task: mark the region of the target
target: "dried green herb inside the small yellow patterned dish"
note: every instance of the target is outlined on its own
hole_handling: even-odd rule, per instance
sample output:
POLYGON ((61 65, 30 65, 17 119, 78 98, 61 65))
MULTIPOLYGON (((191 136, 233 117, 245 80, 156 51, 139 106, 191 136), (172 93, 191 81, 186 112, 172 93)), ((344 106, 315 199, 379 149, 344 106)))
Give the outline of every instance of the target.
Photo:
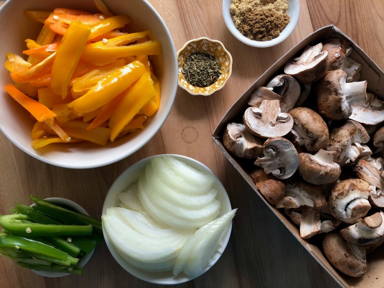
POLYGON ((204 52, 189 55, 184 62, 181 72, 185 80, 197 87, 207 87, 220 77, 220 64, 215 56, 204 52))

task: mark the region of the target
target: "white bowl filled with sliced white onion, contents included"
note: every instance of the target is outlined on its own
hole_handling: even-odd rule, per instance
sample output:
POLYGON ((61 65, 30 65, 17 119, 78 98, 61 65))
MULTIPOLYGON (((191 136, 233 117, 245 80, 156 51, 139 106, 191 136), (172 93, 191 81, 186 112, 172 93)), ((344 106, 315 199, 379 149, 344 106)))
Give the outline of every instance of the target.
POLYGON ((180 155, 143 159, 105 197, 106 245, 127 272, 178 284, 208 271, 224 252, 236 209, 217 176, 180 155))

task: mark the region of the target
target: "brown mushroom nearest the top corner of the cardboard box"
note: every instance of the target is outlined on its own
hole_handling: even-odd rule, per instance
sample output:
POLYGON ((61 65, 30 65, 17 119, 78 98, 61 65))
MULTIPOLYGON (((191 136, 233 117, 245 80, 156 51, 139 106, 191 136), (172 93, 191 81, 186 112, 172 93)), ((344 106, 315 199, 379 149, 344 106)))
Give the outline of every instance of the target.
POLYGON ((329 70, 339 69, 340 64, 349 54, 349 42, 339 38, 329 38, 323 43, 323 51, 328 52, 327 64, 329 70))

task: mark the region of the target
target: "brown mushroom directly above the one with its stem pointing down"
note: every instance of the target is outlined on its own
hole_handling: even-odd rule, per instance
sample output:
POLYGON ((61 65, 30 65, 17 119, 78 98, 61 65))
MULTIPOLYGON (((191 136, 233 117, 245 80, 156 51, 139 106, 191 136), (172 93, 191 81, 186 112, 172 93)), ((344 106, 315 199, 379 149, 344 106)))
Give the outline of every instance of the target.
POLYGON ((285 186, 284 197, 275 205, 279 208, 320 208, 327 203, 326 195, 320 186, 304 181, 289 181, 285 186))

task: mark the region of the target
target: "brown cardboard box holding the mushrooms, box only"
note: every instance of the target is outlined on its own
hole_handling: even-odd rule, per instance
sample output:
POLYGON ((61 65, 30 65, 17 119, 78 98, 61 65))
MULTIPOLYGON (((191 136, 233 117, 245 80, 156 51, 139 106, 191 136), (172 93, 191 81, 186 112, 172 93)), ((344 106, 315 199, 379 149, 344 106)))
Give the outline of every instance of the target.
POLYGON ((280 218, 282 223, 289 229, 289 231, 296 237, 298 241, 305 247, 305 249, 317 260, 319 264, 342 286, 345 287, 384 287, 384 245, 381 245, 374 253, 367 255, 368 260, 368 272, 359 278, 349 277, 336 271, 332 265, 328 262, 321 250, 321 243, 316 243, 314 240, 304 240, 300 237, 300 231, 281 211, 271 206, 265 198, 260 194, 254 185, 253 179, 248 174, 250 170, 249 165, 253 165, 254 161, 243 161, 238 158, 233 158, 232 155, 226 150, 222 142, 222 135, 226 128, 226 125, 230 122, 241 123, 242 116, 245 109, 248 107, 248 99, 250 94, 255 88, 264 86, 274 76, 283 74, 284 65, 295 56, 300 56, 301 52, 307 45, 316 45, 319 42, 326 40, 327 38, 339 37, 344 38, 350 42, 353 52, 350 55, 351 58, 358 61, 363 65, 361 70, 361 79, 368 80, 368 92, 374 93, 381 99, 384 99, 384 72, 377 67, 369 56, 361 50, 356 43, 350 39, 343 32, 338 30, 335 26, 326 26, 313 32, 306 37, 303 41, 298 43, 290 51, 288 51, 283 57, 276 61, 271 68, 269 68, 258 80, 256 80, 251 87, 232 105, 228 112, 221 119, 220 123, 216 127, 212 139, 222 150, 225 157, 229 162, 239 171, 243 178, 253 188, 257 195, 259 195, 264 203, 269 206, 273 213, 280 218))

